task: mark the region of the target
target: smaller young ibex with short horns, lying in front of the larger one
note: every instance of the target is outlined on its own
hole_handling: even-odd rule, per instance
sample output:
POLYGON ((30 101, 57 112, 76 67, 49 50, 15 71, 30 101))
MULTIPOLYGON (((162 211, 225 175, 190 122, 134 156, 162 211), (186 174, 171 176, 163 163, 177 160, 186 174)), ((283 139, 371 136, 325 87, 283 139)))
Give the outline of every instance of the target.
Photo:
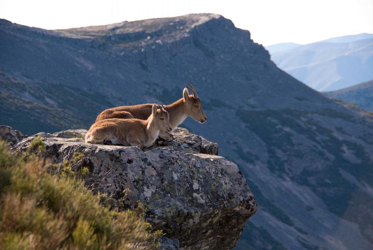
POLYGON ((156 141, 160 131, 171 132, 169 114, 159 105, 151 107, 147 120, 110 118, 94 123, 85 142, 104 144, 110 141, 114 145, 150 147, 156 141))

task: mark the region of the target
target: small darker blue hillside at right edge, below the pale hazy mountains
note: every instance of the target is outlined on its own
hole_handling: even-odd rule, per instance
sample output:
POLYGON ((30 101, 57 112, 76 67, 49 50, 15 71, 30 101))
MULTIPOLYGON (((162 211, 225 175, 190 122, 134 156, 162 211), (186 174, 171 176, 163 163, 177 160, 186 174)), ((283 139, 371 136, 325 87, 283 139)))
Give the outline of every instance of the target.
POLYGON ((373 111, 373 80, 324 94, 373 111))

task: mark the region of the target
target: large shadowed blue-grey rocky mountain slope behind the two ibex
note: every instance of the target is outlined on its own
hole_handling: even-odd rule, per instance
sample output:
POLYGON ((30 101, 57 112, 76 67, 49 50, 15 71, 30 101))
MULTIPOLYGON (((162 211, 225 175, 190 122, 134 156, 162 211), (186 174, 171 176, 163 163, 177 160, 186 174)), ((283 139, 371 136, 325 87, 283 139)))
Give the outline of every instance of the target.
POLYGON ((1 123, 88 128, 104 108, 169 104, 191 82, 206 124, 259 205, 237 249, 372 249, 373 124, 276 67, 219 15, 63 31, 0 24, 1 123), (4 86, 4 87, 3 87, 4 86))

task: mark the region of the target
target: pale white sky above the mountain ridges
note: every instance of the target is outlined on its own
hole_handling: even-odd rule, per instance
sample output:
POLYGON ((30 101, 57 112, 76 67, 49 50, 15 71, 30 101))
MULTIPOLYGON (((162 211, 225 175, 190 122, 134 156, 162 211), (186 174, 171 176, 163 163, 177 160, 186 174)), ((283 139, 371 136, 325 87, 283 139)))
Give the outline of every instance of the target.
POLYGON ((312 43, 373 33, 373 0, 0 0, 0 18, 48 30, 216 13, 256 43, 312 43))

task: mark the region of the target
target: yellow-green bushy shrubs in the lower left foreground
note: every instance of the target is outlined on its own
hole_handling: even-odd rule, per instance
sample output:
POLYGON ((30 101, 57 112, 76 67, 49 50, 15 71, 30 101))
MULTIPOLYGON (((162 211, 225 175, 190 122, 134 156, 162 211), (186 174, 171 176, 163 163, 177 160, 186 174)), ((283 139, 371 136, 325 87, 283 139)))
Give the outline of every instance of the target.
POLYGON ((50 169, 30 153, 17 159, 0 141, 0 249, 157 249, 162 232, 144 221, 141 204, 110 210, 105 195, 50 169))

